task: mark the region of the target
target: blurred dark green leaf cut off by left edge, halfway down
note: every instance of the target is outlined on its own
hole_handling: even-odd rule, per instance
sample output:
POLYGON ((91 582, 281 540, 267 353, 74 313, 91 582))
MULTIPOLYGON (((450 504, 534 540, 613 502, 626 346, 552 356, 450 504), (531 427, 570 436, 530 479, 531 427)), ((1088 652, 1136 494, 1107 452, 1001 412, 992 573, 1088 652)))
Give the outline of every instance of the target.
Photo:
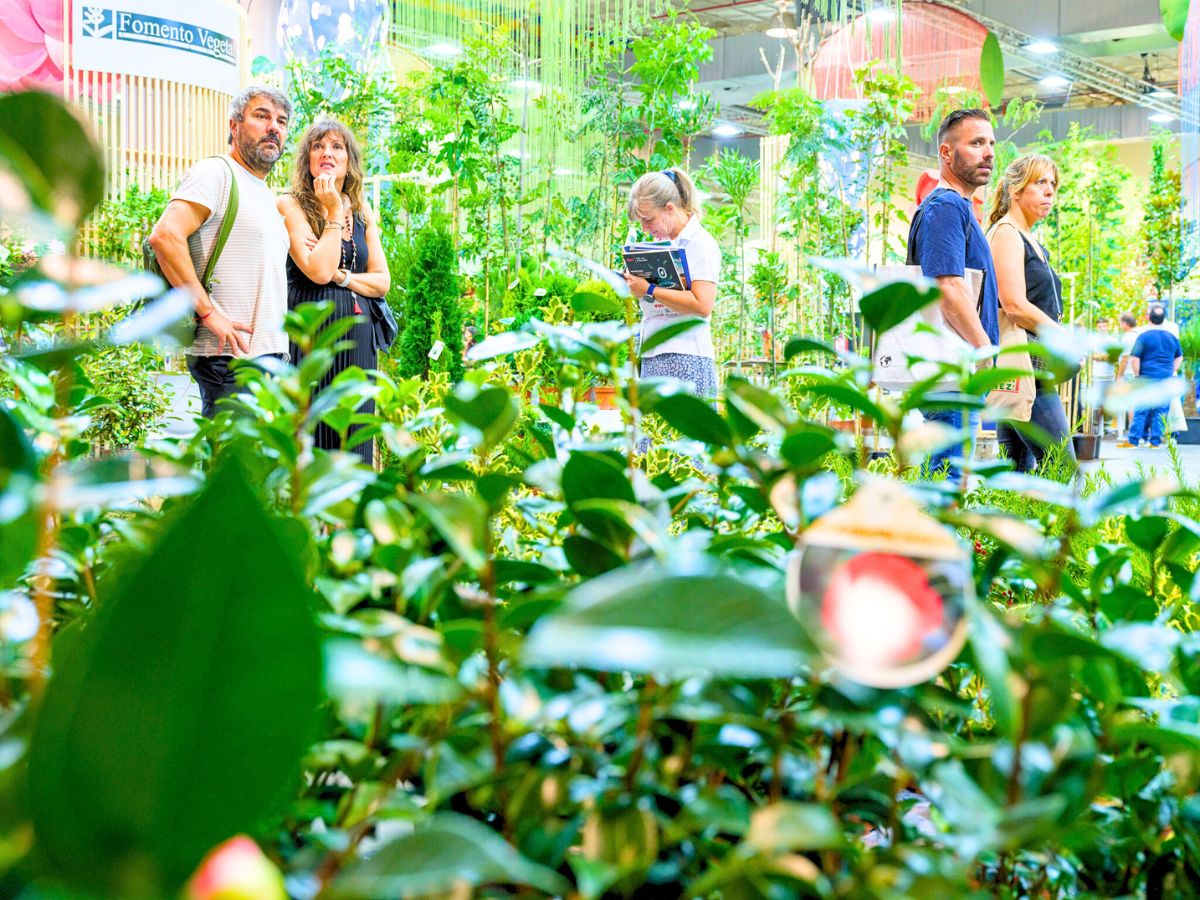
POLYGON ((12 584, 37 551, 37 455, 0 404, 0 586, 12 584))

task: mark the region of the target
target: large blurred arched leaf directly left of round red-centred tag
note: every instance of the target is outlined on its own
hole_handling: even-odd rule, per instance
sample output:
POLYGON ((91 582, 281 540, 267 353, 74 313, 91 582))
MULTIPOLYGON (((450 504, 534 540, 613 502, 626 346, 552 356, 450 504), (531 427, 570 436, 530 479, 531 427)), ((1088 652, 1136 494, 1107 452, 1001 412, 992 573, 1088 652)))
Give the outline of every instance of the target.
POLYGON ((584 582, 534 626, 540 666, 787 678, 809 659, 782 600, 697 557, 642 564, 584 582))

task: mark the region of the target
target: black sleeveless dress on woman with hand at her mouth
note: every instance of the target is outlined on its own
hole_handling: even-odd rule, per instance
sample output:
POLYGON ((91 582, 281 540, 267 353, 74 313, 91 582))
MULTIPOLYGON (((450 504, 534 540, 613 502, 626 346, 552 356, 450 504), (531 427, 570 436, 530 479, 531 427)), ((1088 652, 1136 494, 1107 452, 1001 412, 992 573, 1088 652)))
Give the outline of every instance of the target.
MULTIPOLYGON (((352 272, 359 274, 367 270, 367 229, 366 222, 359 216, 354 217, 354 232, 350 235, 350 240, 342 241, 342 260, 340 268, 348 269, 352 272)), ((288 257, 288 308, 294 310, 300 304, 316 302, 318 300, 329 300, 334 304, 334 314, 329 318, 329 322, 336 322, 337 319, 344 319, 352 316, 359 316, 360 322, 354 324, 343 341, 353 341, 354 347, 348 350, 342 350, 337 354, 334 360, 334 367, 329 370, 325 377, 317 385, 317 390, 323 390, 328 388, 329 384, 341 373, 344 372, 350 366, 359 366, 360 368, 372 370, 376 368, 378 360, 376 358, 373 331, 371 328, 371 313, 366 307, 366 300, 358 294, 355 294, 349 288, 340 288, 336 284, 317 284, 308 281, 308 277, 300 271, 300 268, 292 262, 292 257, 288 257)), ((292 352, 292 360, 294 364, 300 361, 300 348, 292 344, 289 348, 292 352)), ((359 407, 360 413, 373 413, 374 401, 370 400, 359 407)), ((349 434, 353 434, 361 426, 352 425, 349 428, 349 434)), ((317 424, 317 431, 313 434, 313 440, 317 448, 322 450, 338 450, 341 449, 341 439, 337 432, 331 427, 325 425, 325 422, 317 424)), ((374 464, 374 440, 366 440, 358 446, 352 448, 352 452, 358 454, 362 457, 362 462, 367 466, 374 464)))

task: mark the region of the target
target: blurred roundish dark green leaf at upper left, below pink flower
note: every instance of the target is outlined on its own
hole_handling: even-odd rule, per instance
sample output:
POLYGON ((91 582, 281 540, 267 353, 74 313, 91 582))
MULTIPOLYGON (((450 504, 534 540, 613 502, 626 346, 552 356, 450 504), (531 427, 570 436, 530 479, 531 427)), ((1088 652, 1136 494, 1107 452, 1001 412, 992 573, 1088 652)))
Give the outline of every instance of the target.
POLYGON ((78 227, 104 196, 104 166, 83 121, 49 91, 0 96, 0 163, 40 210, 78 227))

